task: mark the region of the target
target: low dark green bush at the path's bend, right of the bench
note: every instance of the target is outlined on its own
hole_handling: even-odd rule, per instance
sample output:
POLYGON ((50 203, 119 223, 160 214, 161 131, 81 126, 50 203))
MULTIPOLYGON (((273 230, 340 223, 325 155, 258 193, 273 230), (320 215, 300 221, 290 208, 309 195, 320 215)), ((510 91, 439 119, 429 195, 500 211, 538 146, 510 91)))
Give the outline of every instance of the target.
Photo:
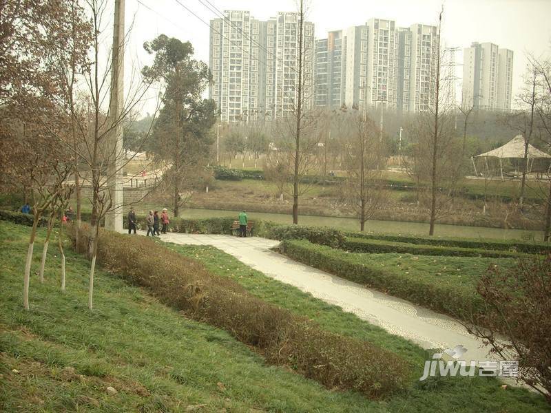
POLYGON ((273 225, 262 235, 272 240, 309 240, 313 244, 342 248, 345 238, 342 231, 327 226, 273 225))

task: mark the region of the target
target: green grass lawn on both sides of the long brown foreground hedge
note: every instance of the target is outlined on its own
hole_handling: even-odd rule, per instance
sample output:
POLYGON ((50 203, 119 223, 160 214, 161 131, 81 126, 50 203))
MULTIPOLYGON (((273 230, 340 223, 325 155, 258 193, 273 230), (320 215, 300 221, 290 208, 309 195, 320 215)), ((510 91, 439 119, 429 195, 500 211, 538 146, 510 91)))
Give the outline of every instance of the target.
MULTIPOLYGON (((30 303, 22 308, 22 273, 29 228, 0 222, 0 410, 6 412, 543 412, 543 398, 501 390, 491 378, 414 383, 385 401, 326 390, 262 357, 229 333, 182 317, 142 288, 101 268, 92 312, 86 308, 89 262, 67 248, 67 290, 59 289, 59 253, 52 245, 30 303), (56 257, 56 255, 58 255, 56 257), (16 369, 17 372, 14 372, 16 369), (113 386, 118 394, 105 389, 113 386), (200 407, 202 405, 202 407, 200 407)), ((309 315, 328 330, 384 343, 411 363, 424 350, 388 335, 340 308, 253 271, 215 248, 171 246, 233 277, 258 297, 309 315)), ((152 257, 155 259, 155 257, 152 257)), ((162 261, 159 261, 162 265, 162 261)))

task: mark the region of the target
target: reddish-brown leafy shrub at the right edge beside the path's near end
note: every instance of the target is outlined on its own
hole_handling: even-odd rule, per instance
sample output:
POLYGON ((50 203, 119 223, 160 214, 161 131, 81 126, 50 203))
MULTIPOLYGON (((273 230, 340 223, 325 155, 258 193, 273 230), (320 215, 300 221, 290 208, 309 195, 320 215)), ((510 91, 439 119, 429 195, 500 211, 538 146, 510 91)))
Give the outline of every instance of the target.
POLYGON ((469 331, 503 359, 518 360, 519 378, 551 404, 551 255, 523 258, 504 273, 490 267, 477 291, 484 312, 469 321, 485 328, 469 331))

